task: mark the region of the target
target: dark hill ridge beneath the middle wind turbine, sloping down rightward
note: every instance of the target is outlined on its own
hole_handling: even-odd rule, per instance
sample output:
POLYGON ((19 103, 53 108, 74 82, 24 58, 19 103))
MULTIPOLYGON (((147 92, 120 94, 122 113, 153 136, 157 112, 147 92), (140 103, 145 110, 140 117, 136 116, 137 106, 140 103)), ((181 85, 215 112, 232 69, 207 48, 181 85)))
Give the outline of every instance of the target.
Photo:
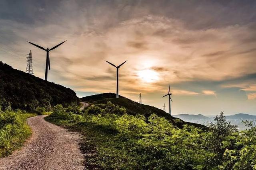
POLYGON ((140 104, 138 102, 134 102, 120 95, 119 95, 119 98, 116 98, 116 94, 114 93, 103 93, 103 94, 96 94, 92 96, 86 96, 86 97, 80 98, 80 100, 83 102, 89 102, 92 104, 106 104, 108 101, 110 101, 113 104, 125 107, 127 113, 130 115, 141 114, 141 115, 144 115, 145 117, 148 117, 152 113, 156 113, 158 116, 165 117, 168 121, 170 121, 172 124, 176 125, 177 127, 182 127, 182 125, 188 124, 188 125, 194 125, 195 127, 205 128, 204 125, 185 122, 179 118, 173 117, 172 115, 156 107, 140 104))

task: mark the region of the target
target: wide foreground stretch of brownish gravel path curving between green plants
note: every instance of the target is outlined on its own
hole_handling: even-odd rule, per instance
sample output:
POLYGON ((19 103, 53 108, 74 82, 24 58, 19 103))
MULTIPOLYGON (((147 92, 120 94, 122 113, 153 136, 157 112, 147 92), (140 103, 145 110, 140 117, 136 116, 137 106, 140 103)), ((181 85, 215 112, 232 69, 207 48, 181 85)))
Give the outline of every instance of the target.
POLYGON ((0 158, 0 170, 82 170, 80 136, 48 123, 45 116, 28 118, 32 136, 20 150, 0 158))

